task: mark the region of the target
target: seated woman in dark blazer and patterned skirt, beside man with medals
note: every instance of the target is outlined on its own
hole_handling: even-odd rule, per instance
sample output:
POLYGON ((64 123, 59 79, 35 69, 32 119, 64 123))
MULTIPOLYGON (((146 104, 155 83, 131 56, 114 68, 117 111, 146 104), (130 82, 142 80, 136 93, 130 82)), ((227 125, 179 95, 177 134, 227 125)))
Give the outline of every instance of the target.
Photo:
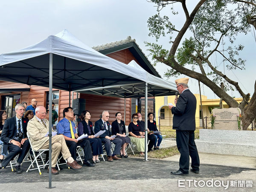
POLYGON ((126 136, 125 131, 125 122, 121 120, 122 114, 120 112, 116 113, 116 120, 112 123, 112 135, 117 135, 116 137, 122 140, 122 149, 120 150, 121 158, 128 158, 128 155, 125 153, 125 147, 131 143, 131 139, 126 136))

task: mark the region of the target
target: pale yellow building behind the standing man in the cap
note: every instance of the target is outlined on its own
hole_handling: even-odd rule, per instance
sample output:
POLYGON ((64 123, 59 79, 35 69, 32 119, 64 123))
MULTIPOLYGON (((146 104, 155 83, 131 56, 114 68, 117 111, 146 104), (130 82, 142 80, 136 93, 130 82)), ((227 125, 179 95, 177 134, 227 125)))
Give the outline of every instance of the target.
MULTIPOLYGON (((200 95, 194 94, 197 100, 197 106, 195 111, 195 126, 197 128, 202 127, 201 117, 201 103, 200 95)), ((207 96, 201 95, 202 97, 202 108, 204 116, 204 124, 207 128, 211 127, 210 124, 210 113, 213 108, 219 108, 220 99, 207 99, 207 96), (205 123, 207 122, 207 124, 205 123)), ((174 104, 175 96, 159 96, 155 97, 155 109, 156 109, 156 122, 159 126, 172 126, 172 111, 169 110, 168 103, 174 104), (160 124, 159 124, 160 121, 160 124)), ((242 98, 235 98, 237 102, 241 102, 242 98)), ((223 108, 229 108, 226 102, 222 101, 223 108)))

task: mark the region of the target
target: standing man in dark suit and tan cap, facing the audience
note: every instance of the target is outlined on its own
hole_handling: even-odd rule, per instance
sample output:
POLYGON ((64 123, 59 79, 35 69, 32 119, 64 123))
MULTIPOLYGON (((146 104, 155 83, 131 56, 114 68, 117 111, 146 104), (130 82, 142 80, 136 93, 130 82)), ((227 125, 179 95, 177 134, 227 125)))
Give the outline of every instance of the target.
POLYGON ((180 169, 171 172, 172 175, 189 174, 189 156, 192 159, 190 170, 199 173, 200 160, 194 134, 196 98, 188 88, 188 81, 189 78, 175 80, 180 96, 178 100, 175 99, 176 107, 169 105, 169 109, 174 114, 172 128, 176 129, 176 143, 180 151, 180 169))

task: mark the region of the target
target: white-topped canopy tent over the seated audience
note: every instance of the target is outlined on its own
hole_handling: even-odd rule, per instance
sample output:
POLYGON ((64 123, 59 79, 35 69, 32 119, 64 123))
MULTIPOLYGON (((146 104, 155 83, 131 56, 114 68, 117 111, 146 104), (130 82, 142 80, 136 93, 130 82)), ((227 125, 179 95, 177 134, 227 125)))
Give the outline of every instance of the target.
MULTIPOLYGON (((176 92, 174 84, 154 77, 145 70, 134 70, 130 64, 123 64, 97 52, 76 39, 67 30, 51 35, 38 44, 1 54, 0 80, 49 87, 49 95, 52 95, 52 88, 76 92, 81 90, 82 93, 86 93, 95 87, 102 87, 101 95, 107 95, 104 93, 107 87, 122 87, 121 84, 132 84, 136 90, 140 90, 141 84, 144 84, 145 101, 148 96, 148 84, 150 90, 152 88, 152 93, 150 93, 152 96, 157 96, 155 93, 159 96, 174 95, 176 92), (160 89, 160 92, 157 89, 160 89)), ((142 93, 134 95, 133 92, 123 91, 122 94, 113 93, 108 96, 144 96, 142 93)), ((52 98, 49 97, 49 103, 51 102, 52 98)), ((145 109, 147 110, 146 103, 145 109)), ((49 116, 52 116, 51 108, 49 116)), ((52 125, 51 121, 50 118, 49 125, 52 125)), ((50 145, 51 140, 52 133, 49 130, 50 145)), ((146 158, 145 155, 145 160, 146 158)), ((49 147, 49 160, 51 160, 51 146, 49 147)), ((49 170, 51 170, 51 163, 49 163, 49 170)), ((49 188, 52 187, 51 180, 49 171, 49 188)))

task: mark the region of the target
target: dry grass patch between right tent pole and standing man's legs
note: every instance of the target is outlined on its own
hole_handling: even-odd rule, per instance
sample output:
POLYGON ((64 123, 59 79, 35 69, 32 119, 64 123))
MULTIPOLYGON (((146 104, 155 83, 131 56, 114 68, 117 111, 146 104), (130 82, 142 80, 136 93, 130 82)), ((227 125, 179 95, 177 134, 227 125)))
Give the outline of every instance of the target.
MULTIPOLYGON (((150 151, 148 153, 148 158, 155 158, 155 159, 163 159, 166 157, 171 157, 173 155, 180 154, 178 151, 177 146, 174 147, 168 147, 168 148, 160 148, 159 150, 156 151, 150 151)), ((129 155, 130 157, 142 157, 140 154, 135 154, 135 155, 129 155)))

